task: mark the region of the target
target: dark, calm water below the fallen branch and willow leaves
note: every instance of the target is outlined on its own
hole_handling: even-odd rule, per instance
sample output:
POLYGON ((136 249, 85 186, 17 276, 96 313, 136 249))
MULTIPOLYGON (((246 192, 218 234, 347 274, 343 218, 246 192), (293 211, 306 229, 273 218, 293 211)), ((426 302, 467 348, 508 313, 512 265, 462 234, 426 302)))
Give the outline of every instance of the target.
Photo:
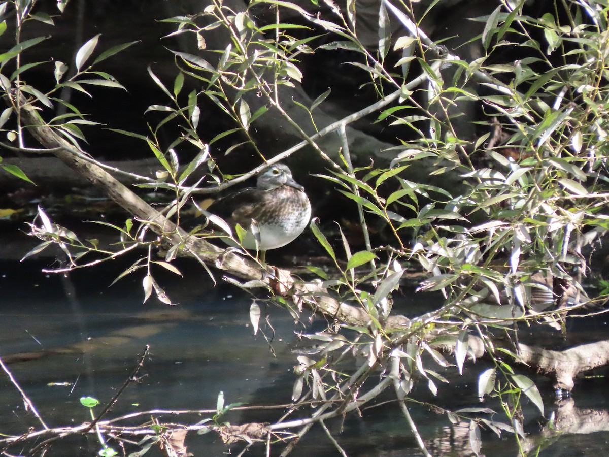
MULTIPOLYGON (((153 298, 142 303, 143 271, 108 288, 128 264, 106 264, 69 277, 43 274, 40 269, 45 266, 34 261, 0 263, 0 355, 50 427, 88 420, 88 410, 80 405, 80 397, 96 397, 102 403, 110 400, 135 368, 146 345, 150 346, 150 358, 141 371, 145 377, 128 386, 106 419, 149 409, 213 409, 220 391, 224 391, 226 403, 289 403, 295 380, 294 331, 305 327, 295 326, 286 311, 262 303, 273 326, 271 329, 261 325, 272 337, 269 344, 262 335, 253 335, 249 320, 251 297, 231 286, 211 287, 209 278, 194 263, 180 264, 184 278, 163 272, 157 275, 161 286, 179 303, 176 306, 162 305, 153 298)), ((417 314, 428 304, 427 299, 415 299, 403 297, 396 306, 417 314)), ((323 327, 321 322, 319 325, 323 327)), ((573 325, 576 334, 579 331, 581 335, 607 338, 603 322, 573 325)), ((476 377, 482 369, 484 365, 479 363, 462 377, 453 376, 449 385, 437 383, 437 397, 432 397, 425 386, 415 389, 413 396, 448 409, 481 406, 476 377)), ((546 381, 539 385, 550 411, 554 408, 551 386, 546 381)), ((576 388, 576 406, 607 414, 608 385, 604 379, 583 381, 576 388)), ((390 398, 388 395, 380 401, 390 398)), ((412 405, 410 412, 432 455, 471 455, 466 423, 452 426, 445 415, 435 414, 426 406, 412 405)), ((282 413, 234 412, 227 420, 273 422, 282 413)), ((538 431, 543 420, 530 405, 525 413, 530 418, 527 438, 534 448, 542 442, 538 431)), ((203 417, 164 416, 161 421, 195 423, 203 417)), ((139 423, 147 419, 141 418, 139 423)), ((137 423, 138 420, 133 425, 137 423)), ((327 425, 350 456, 421 455, 399 409, 392 403, 364 409, 362 417, 350 414, 343 423, 327 425)), ((32 414, 24 411, 16 389, 0 373, 0 433, 23 433, 30 426, 40 428, 32 414)), ((485 455, 518 455, 518 446, 509 434, 498 438, 484 432, 482 439, 485 455)), ((608 441, 607 431, 564 433, 546 439, 539 455, 605 455, 608 441)), ((213 433, 189 434, 186 445, 195 456, 227 453, 227 447, 213 433)), ((9 453, 25 455, 31 447, 31 442, 15 446, 9 453)), ((233 455, 241 449, 242 445, 234 446, 233 455)), ((99 443, 90 436, 58 442, 47 455, 95 455, 97 450, 99 443)), ((146 455, 160 452, 153 449, 146 455)), ((264 455, 264 448, 254 446, 248 455, 264 455)), ((292 455, 339 454, 321 428, 313 427, 292 455)))

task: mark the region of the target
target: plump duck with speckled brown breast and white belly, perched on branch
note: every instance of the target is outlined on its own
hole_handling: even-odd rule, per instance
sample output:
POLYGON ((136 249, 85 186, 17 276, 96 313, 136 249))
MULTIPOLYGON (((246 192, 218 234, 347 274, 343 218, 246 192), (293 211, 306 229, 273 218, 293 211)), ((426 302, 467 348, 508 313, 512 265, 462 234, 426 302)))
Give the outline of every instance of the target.
MULTIPOLYGON (((259 250, 263 261, 267 250, 294 241, 311 220, 311 203, 305 188, 295 182, 283 163, 267 166, 259 174, 256 187, 228 194, 213 202, 207 211, 227 222, 233 238, 237 238, 236 226, 243 228, 241 246, 259 250)), ((197 218, 197 222, 203 221, 197 218)), ((230 239, 225 241, 235 245, 230 239)))

